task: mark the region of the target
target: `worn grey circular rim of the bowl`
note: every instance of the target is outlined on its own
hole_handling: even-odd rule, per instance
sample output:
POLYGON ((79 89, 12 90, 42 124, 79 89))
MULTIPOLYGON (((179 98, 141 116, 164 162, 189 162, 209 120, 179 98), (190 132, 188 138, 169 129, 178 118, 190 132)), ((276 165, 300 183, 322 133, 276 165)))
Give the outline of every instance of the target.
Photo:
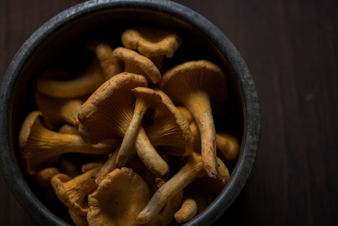
POLYGON ((201 33, 218 47, 221 54, 226 56, 229 64, 233 67, 234 73, 238 75, 236 76, 236 82, 239 84, 243 117, 246 118, 243 125, 240 156, 230 180, 217 199, 202 213, 184 225, 213 224, 236 200, 254 166, 261 132, 260 106, 256 87, 240 53, 219 28, 194 10, 168 0, 90 0, 82 2, 58 13, 32 33, 10 62, 0 86, 0 106, 2 106, 0 109, 1 171, 8 187, 21 206, 35 221, 43 225, 65 226, 69 224, 55 216, 35 197, 29 189, 24 176, 16 167, 14 156, 10 151, 13 140, 8 136, 8 134, 11 134, 9 125, 11 113, 10 90, 19 79, 20 71, 25 66, 25 63, 27 63, 29 56, 38 48, 40 43, 65 24, 81 16, 86 16, 100 10, 135 7, 159 11, 183 20, 193 27, 197 27, 201 33), (11 177, 11 175, 19 175, 19 178, 11 177))

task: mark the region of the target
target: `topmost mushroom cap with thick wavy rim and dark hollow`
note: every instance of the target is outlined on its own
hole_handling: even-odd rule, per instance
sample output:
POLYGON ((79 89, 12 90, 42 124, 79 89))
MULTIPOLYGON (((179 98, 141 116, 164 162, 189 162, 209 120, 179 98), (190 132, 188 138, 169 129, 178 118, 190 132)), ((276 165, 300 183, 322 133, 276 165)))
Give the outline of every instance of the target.
POLYGON ((146 57, 166 55, 171 58, 182 44, 183 38, 167 28, 138 26, 125 30, 121 41, 124 47, 138 50, 146 57))

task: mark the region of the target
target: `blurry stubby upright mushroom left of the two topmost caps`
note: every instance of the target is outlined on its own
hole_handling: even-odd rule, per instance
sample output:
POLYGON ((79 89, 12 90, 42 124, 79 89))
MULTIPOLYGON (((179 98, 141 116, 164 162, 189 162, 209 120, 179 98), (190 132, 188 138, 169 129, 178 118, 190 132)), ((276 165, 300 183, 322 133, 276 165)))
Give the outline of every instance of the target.
POLYGON ((95 52, 100 61, 105 80, 123 72, 122 61, 112 57, 113 48, 103 39, 91 39, 86 43, 88 50, 95 52))

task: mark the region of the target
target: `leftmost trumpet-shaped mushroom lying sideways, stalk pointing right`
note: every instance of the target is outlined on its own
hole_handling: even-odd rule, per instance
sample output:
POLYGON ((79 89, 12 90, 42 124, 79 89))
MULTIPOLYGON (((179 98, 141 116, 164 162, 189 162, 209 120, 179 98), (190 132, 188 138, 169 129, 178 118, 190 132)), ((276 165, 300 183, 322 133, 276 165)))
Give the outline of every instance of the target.
POLYGON ((114 145, 88 145, 80 135, 63 134, 47 129, 40 111, 30 112, 19 132, 19 150, 24 172, 35 175, 65 153, 108 154, 114 145))

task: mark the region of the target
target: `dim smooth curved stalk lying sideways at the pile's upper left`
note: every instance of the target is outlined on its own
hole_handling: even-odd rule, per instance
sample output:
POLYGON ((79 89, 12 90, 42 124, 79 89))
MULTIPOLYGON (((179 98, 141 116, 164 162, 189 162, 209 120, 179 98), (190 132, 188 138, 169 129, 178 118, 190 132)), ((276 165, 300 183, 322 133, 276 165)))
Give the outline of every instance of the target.
MULTIPOLYGON (((49 70, 46 73, 64 74, 61 70, 49 70)), ((36 80, 37 90, 48 96, 58 98, 74 98, 94 92, 106 80, 103 76, 99 60, 94 57, 87 68, 75 78, 69 75, 69 80, 59 81, 49 78, 51 75, 38 77, 36 80)), ((55 75, 53 75, 55 76, 55 75)))

